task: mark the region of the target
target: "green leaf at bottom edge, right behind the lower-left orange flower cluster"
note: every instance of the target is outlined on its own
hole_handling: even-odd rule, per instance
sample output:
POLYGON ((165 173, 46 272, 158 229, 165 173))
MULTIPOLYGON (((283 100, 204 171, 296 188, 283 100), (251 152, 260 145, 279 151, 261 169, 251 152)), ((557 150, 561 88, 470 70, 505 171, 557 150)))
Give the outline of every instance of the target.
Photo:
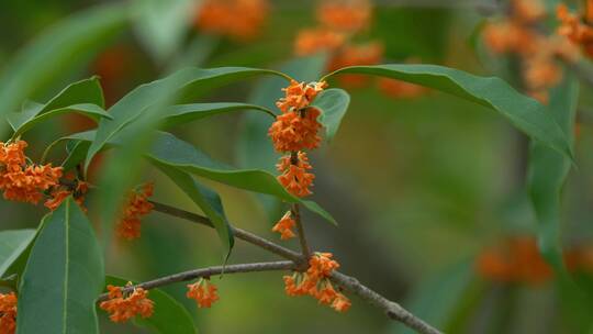
MULTIPOLYGON (((130 280, 107 276, 105 285, 125 286, 130 280)), ((155 312, 150 318, 137 318, 134 324, 150 327, 163 334, 195 334, 191 315, 177 300, 160 289, 150 289, 148 298, 155 302, 155 312)))

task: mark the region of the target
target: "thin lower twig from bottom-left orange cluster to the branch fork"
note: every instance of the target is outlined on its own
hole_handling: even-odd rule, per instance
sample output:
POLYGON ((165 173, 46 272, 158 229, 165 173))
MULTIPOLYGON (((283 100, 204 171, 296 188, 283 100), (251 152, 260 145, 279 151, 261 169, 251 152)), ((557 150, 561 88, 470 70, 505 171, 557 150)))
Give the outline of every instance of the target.
MULTIPOLYGON (((174 274, 170 276, 165 276, 154 280, 145 281, 143 283, 125 287, 122 289, 123 292, 132 292, 135 288, 143 288, 145 290, 155 289, 158 287, 177 283, 181 281, 190 281, 201 277, 210 277, 222 274, 239 274, 239 272, 257 272, 257 271, 275 271, 275 270, 291 270, 294 269, 295 265, 293 261, 273 261, 273 263, 257 263, 257 264, 243 264, 243 265, 228 265, 228 266, 216 266, 208 267, 201 269, 194 269, 189 271, 183 271, 179 274, 174 274)), ((99 296, 98 301, 104 301, 109 299, 108 293, 99 296)))

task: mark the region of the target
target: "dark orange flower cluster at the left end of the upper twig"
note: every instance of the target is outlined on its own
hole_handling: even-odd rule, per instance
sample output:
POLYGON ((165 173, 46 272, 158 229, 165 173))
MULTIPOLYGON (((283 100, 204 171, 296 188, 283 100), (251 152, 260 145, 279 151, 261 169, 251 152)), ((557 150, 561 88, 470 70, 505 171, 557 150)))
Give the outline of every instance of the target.
POLYGON ((132 191, 118 223, 116 233, 125 240, 135 240, 141 236, 141 219, 153 211, 153 203, 148 198, 153 196, 154 185, 145 183, 141 191, 132 191))

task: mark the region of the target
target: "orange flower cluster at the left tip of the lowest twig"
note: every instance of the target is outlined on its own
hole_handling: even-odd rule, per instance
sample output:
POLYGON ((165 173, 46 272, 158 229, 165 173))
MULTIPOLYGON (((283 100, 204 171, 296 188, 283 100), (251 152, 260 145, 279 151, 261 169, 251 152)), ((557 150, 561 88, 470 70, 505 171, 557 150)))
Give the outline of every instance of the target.
MULTIPOLYGON (((127 286, 132 283, 128 282, 127 286)), ((113 322, 126 322, 139 315, 149 318, 154 312, 154 302, 148 299, 148 291, 143 288, 134 288, 128 296, 124 296, 122 288, 108 286, 109 300, 103 301, 99 307, 107 311, 109 319, 113 322)))

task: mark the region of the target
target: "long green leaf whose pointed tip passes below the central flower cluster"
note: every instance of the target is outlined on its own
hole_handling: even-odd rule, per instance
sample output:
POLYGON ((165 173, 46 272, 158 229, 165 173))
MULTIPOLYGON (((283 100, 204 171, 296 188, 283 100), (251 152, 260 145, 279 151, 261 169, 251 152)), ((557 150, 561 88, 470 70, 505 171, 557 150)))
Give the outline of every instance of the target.
MULTIPOLYGON (((92 142, 94 134, 94 131, 87 131, 69 135, 63 140, 92 142)), ((120 144, 116 141, 109 143, 109 145, 114 146, 120 144)), ((149 160, 176 167, 189 174, 224 185, 258 193, 271 194, 289 203, 301 203, 326 221, 336 224, 334 218, 317 203, 290 194, 271 174, 261 169, 236 169, 213 160, 193 145, 177 138, 170 133, 157 132, 153 147, 145 155, 149 160)))

